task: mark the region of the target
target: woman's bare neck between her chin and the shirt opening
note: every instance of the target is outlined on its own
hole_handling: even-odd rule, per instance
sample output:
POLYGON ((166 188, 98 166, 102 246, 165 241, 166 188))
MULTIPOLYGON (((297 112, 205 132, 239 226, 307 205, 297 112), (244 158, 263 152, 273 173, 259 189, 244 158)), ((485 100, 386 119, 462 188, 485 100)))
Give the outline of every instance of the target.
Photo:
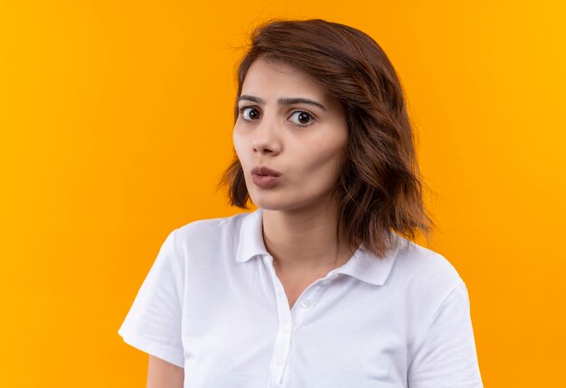
POLYGON ((336 211, 329 203, 308 209, 263 210, 263 241, 278 268, 328 270, 347 261, 344 233, 336 240, 336 211))

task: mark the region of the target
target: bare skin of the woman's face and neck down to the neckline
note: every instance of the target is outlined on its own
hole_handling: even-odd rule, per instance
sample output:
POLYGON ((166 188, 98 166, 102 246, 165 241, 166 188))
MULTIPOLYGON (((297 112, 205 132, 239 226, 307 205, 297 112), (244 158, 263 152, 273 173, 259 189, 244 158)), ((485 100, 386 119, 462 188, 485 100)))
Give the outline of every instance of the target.
POLYGON ((348 141, 344 109, 307 74, 263 59, 246 74, 239 109, 234 148, 250 198, 263 209, 263 239, 292 308, 313 281, 354 254, 336 246, 330 200, 348 141), (255 185, 256 166, 278 170, 277 185, 255 185))

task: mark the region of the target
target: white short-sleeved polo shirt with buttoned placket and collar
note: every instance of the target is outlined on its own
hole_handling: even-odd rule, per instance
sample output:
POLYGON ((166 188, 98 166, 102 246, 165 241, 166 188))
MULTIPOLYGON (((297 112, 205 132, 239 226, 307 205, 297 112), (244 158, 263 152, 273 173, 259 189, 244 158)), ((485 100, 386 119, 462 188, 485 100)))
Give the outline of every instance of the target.
POLYGON ((293 308, 262 210, 171 232, 118 330, 184 368, 184 388, 480 388, 466 285, 443 256, 394 234, 358 249, 293 308))

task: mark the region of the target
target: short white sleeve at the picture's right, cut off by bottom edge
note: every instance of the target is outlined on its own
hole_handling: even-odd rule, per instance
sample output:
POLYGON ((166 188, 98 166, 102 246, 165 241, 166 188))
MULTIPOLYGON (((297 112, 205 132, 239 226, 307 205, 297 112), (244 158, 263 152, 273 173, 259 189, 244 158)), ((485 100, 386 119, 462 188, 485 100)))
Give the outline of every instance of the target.
POLYGON ((482 388, 464 281, 453 289, 415 343, 409 388, 482 388))

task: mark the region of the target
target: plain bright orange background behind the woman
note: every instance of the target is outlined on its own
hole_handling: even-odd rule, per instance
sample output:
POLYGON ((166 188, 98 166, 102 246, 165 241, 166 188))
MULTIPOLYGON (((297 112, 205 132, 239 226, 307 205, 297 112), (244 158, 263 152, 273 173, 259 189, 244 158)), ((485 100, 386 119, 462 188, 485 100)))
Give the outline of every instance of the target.
POLYGON ((382 45, 436 193, 429 248, 467 283, 486 387, 558 386, 565 3, 467 3, 0 3, 1 384, 145 386, 147 355, 118 327, 168 232, 241 212, 215 191, 232 71, 277 16, 382 45))

